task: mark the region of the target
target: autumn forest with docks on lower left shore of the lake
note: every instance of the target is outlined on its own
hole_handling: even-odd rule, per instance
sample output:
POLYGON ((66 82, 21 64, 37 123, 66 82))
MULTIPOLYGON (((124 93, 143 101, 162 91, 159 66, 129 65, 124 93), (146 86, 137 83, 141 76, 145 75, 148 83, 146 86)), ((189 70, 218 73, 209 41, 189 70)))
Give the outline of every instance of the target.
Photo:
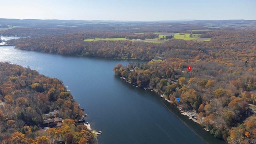
POLYGON ((78 103, 61 80, 8 62, 0 62, 1 144, 97 143, 78 120, 83 115, 78 103), (64 119, 62 126, 44 130, 45 114, 64 119))

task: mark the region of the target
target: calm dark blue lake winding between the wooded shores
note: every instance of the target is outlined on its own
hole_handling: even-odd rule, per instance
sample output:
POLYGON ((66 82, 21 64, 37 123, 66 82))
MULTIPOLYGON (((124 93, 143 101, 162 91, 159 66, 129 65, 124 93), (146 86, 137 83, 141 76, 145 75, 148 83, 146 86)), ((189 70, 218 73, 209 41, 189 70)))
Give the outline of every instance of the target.
POLYGON ((0 47, 0 61, 29 66, 63 80, 85 108, 86 121, 94 130, 102 130, 99 144, 223 143, 154 92, 114 76, 116 64, 138 61, 46 54, 12 46, 0 47))

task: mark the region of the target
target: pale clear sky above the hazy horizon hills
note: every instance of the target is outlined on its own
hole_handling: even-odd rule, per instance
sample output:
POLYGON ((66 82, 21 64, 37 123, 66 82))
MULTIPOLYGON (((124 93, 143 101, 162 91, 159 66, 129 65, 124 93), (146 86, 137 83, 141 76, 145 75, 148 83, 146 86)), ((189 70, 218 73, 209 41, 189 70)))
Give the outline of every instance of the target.
POLYGON ((256 20, 256 0, 3 0, 0 18, 256 20))

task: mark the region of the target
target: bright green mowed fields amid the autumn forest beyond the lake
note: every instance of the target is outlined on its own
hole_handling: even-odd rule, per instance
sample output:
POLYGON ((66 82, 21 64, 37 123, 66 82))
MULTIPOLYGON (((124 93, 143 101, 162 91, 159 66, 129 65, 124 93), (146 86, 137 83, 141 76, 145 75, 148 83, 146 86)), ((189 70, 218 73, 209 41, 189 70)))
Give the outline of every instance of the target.
MULTIPOLYGON (((199 38, 200 34, 193 34, 193 36, 196 36, 194 38, 190 38, 190 34, 180 34, 180 33, 171 33, 171 32, 144 32, 144 33, 138 33, 138 34, 146 34, 146 33, 152 33, 152 34, 159 34, 159 38, 154 39, 145 39, 145 40, 137 40, 137 41, 143 41, 143 42, 165 42, 166 39, 160 40, 160 38, 163 38, 165 36, 174 36, 174 39, 182 39, 182 40, 197 40, 197 41, 210 41, 210 38, 199 38)), ((129 40, 126 38, 95 38, 95 39, 86 39, 85 42, 92 42, 92 41, 98 41, 98 40, 129 40)), ((136 40, 131 40, 136 41, 136 40)))

